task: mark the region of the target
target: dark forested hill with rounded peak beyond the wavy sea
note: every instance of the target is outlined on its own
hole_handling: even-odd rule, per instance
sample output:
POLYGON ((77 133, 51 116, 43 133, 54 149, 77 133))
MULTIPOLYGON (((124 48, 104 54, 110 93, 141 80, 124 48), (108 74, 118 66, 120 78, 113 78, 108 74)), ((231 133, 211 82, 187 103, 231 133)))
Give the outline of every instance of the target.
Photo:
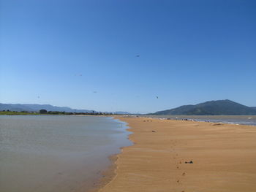
POLYGON ((172 110, 155 112, 151 115, 256 115, 256 107, 247 107, 234 101, 206 101, 195 105, 183 105, 172 110))

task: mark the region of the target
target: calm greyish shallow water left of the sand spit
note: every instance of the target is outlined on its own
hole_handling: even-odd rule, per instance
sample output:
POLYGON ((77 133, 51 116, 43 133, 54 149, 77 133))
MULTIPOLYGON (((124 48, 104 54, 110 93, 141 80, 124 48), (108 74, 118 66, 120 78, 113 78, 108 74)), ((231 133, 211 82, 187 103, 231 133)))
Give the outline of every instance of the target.
POLYGON ((131 145, 124 123, 108 117, 0 116, 0 191, 86 191, 131 145))

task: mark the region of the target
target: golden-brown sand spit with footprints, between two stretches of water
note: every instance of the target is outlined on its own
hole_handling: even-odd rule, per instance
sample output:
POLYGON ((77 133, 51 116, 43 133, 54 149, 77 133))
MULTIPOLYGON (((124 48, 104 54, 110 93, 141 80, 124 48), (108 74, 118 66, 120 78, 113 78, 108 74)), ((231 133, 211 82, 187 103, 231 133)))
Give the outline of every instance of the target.
POLYGON ((118 119, 135 145, 117 156, 116 176, 100 192, 256 191, 255 126, 118 119))

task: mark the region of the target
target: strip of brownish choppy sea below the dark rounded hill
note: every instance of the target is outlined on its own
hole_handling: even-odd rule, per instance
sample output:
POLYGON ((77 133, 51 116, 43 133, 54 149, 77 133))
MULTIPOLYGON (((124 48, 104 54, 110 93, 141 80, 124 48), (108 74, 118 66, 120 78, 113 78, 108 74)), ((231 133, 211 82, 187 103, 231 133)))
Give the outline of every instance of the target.
POLYGON ((256 115, 147 115, 151 118, 192 119, 256 126, 256 115))

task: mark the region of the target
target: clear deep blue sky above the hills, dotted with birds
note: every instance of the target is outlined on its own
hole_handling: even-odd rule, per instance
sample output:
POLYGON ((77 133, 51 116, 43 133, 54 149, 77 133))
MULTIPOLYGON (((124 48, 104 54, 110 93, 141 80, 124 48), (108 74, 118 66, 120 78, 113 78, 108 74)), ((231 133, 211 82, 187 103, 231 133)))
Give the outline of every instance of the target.
POLYGON ((0 2, 1 103, 256 106, 255 0, 0 2))

